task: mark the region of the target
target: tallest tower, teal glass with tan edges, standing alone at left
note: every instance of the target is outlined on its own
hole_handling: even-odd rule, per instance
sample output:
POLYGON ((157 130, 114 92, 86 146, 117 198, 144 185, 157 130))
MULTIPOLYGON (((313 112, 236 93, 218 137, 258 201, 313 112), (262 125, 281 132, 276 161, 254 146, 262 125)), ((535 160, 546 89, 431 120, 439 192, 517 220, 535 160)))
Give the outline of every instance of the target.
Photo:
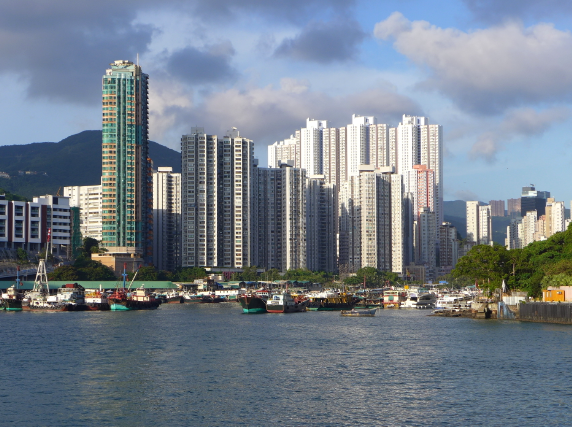
POLYGON ((102 244, 109 252, 152 256, 153 178, 148 157, 149 76, 115 61, 102 89, 102 244))

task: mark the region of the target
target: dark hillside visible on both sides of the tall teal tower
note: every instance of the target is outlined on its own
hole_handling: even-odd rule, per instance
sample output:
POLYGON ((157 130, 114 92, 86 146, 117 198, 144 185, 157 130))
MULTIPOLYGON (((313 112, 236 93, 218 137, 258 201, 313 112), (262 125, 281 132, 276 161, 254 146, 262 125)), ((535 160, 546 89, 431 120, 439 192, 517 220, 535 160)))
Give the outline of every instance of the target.
MULTIPOLYGON (((155 168, 171 166, 173 172, 181 171, 179 152, 149 141, 149 155, 155 168)), ((28 199, 56 194, 59 187, 100 184, 101 131, 87 130, 57 143, 0 147, 0 172, 10 175, 10 179, 0 175, 1 188, 28 199)))

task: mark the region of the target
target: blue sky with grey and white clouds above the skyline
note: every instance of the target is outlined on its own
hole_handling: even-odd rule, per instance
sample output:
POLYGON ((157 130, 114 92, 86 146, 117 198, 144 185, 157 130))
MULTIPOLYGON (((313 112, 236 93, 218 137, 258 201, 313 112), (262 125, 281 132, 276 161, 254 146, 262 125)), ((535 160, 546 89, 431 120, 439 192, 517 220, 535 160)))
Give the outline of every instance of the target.
MULTIPOLYGON (((445 200, 572 200, 569 0, 0 0, 0 145, 101 129, 101 78, 139 58, 150 138, 237 127, 267 146, 306 118, 422 115, 445 200)), ((160 166, 160 165, 159 165, 160 166)))

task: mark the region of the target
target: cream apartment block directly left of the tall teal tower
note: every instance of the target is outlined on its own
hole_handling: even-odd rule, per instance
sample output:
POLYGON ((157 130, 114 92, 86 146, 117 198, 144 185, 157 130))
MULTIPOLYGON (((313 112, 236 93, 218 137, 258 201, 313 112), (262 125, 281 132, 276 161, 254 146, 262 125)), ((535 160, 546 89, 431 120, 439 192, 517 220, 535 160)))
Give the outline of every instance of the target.
POLYGON ((64 187, 63 194, 69 197, 70 207, 79 208, 82 237, 91 237, 101 241, 101 185, 64 187))

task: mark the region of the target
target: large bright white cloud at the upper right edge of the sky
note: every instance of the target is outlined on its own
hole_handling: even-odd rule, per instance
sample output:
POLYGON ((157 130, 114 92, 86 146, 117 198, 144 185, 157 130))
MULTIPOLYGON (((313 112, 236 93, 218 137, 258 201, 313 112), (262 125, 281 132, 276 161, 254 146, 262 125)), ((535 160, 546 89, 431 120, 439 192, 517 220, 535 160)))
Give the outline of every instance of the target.
POLYGON ((572 34, 550 24, 517 22, 464 32, 399 12, 376 24, 374 34, 392 39, 397 51, 427 69, 420 83, 466 111, 496 114, 506 108, 569 101, 572 34))

